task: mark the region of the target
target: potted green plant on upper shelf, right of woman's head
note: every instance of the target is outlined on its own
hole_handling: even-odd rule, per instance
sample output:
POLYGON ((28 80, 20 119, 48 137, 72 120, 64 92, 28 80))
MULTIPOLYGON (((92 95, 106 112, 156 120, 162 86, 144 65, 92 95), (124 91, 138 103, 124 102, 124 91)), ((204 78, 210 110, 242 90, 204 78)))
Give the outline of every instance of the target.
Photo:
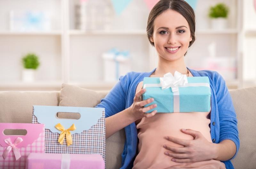
POLYGON ((226 4, 219 3, 209 9, 209 18, 213 29, 225 29, 228 27, 229 8, 226 4))

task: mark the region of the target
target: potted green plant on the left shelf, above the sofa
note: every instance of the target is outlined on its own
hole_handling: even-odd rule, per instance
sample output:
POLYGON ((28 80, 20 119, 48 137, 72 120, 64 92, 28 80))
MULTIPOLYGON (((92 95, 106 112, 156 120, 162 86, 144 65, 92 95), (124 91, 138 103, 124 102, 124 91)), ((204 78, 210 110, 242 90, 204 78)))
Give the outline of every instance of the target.
POLYGON ((28 53, 22 57, 23 71, 22 81, 33 82, 35 80, 35 71, 40 65, 38 56, 34 53, 28 53))

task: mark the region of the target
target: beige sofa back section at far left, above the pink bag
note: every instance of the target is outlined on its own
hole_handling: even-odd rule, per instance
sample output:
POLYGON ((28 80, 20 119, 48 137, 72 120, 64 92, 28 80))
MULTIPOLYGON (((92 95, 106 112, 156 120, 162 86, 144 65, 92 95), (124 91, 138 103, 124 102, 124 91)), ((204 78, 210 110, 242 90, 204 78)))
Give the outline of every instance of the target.
POLYGON ((58 106, 59 91, 1 91, 0 123, 31 123, 33 105, 58 106))

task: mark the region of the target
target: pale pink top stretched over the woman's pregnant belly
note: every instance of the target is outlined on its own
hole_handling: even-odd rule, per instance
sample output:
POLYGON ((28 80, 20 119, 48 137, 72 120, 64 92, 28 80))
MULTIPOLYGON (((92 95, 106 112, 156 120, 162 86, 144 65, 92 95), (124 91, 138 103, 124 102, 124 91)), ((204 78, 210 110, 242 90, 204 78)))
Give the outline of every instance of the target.
MULTIPOLYGON (((188 71, 188 76, 193 76, 188 71)), ((165 136, 178 137, 192 140, 191 135, 182 133, 180 129, 192 129, 200 131, 204 137, 212 143, 207 118, 210 112, 189 113, 156 113, 150 118, 142 118, 137 124, 138 130, 138 155, 133 163, 133 169, 143 168, 220 168, 225 169, 225 164, 219 160, 207 160, 194 163, 177 163, 171 161, 172 157, 164 154, 163 145, 183 147, 164 139, 165 136), (161 131, 161 132, 160 132, 161 131)))

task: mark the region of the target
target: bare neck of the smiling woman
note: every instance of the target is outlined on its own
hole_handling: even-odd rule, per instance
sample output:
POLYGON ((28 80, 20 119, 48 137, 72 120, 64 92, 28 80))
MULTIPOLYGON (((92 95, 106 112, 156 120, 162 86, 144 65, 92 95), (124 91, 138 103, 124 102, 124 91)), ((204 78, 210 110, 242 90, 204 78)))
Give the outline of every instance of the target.
POLYGON ((155 74, 164 75, 168 72, 174 74, 175 71, 180 72, 181 74, 188 74, 188 69, 185 65, 184 56, 179 60, 165 60, 161 56, 158 56, 158 65, 156 67, 155 74))

